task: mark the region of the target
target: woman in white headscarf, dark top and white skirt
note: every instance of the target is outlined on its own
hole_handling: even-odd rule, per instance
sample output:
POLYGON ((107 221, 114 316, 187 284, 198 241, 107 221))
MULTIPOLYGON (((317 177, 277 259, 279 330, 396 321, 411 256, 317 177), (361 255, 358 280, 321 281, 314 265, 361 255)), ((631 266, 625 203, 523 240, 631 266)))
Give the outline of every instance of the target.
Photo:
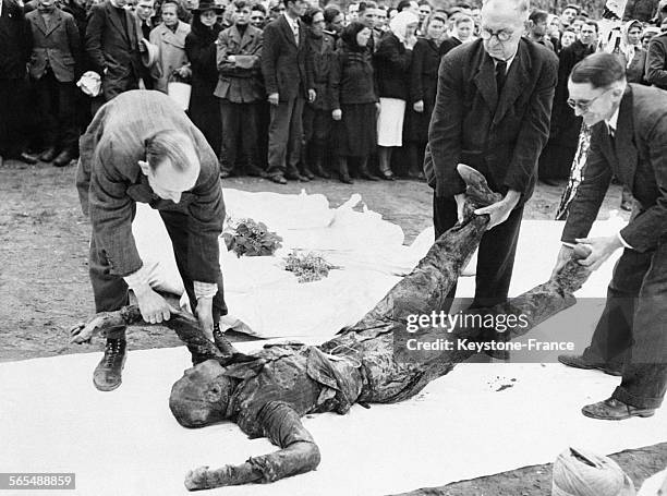
POLYGON ((389 22, 389 32, 380 39, 375 52, 375 70, 380 101, 377 120, 378 161, 381 177, 393 180, 391 152, 403 146, 403 119, 409 99, 412 49, 416 44, 419 16, 402 11, 389 22))

